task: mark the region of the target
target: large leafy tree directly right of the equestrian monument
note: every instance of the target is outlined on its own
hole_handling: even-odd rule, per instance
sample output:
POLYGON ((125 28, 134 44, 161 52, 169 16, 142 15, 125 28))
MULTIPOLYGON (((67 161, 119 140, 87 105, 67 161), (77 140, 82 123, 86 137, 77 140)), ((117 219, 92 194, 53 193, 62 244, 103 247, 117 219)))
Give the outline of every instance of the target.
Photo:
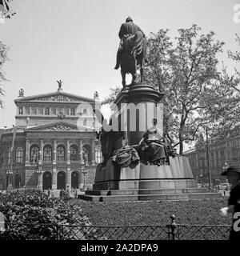
POLYGON ((165 93, 164 132, 173 146, 179 146, 179 154, 183 142, 199 138, 203 127, 223 127, 239 100, 233 87, 222 85, 217 70, 224 43, 214 40, 214 32, 200 35, 200 30, 196 25, 180 29, 174 42, 167 30, 159 30, 148 40, 146 80, 165 93))

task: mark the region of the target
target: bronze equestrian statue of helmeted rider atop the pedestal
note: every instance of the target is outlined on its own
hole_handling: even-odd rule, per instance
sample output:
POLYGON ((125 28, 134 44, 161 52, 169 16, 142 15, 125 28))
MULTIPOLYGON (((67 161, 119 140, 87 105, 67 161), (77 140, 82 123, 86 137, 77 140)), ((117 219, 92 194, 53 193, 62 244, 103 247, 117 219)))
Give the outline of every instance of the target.
POLYGON ((132 75, 131 85, 136 84, 137 68, 140 66, 141 82, 143 82, 143 66, 146 59, 146 36, 133 19, 128 17, 122 23, 118 36, 120 44, 117 53, 117 63, 114 67, 118 70, 121 66, 122 86, 126 86, 126 74, 132 75))

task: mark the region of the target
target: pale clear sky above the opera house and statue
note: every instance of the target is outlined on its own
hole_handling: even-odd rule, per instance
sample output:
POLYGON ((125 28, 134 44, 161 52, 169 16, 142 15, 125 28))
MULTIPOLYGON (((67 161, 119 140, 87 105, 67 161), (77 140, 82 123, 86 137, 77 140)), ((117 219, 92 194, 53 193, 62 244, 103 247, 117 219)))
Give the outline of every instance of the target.
POLYGON ((21 88, 25 96, 50 93, 62 79, 65 92, 93 98, 97 90, 104 99, 110 88, 122 86, 114 65, 118 31, 129 15, 146 35, 169 29, 174 39, 179 28, 193 24, 202 33, 213 30, 215 38, 226 43, 219 60, 230 72, 239 70, 227 58, 227 50, 239 50, 235 34, 240 34, 240 20, 234 19, 239 4, 240 0, 14 0, 11 9, 16 14, 0 23, 0 40, 10 46, 10 61, 3 66, 8 82, 0 128, 14 124, 14 99, 21 88))

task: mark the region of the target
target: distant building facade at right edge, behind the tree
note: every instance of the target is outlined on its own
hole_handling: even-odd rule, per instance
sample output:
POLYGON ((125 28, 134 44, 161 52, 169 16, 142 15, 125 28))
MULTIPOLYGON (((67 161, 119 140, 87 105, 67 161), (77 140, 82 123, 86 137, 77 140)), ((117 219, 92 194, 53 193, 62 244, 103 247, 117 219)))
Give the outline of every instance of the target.
MULTIPOLYGON (((206 144, 196 145, 194 149, 184 154, 189 158, 194 177, 198 182, 209 182, 206 144)), ((226 177, 221 176, 226 166, 240 166, 240 127, 237 127, 224 140, 210 141, 208 157, 213 184, 226 182, 226 177)))

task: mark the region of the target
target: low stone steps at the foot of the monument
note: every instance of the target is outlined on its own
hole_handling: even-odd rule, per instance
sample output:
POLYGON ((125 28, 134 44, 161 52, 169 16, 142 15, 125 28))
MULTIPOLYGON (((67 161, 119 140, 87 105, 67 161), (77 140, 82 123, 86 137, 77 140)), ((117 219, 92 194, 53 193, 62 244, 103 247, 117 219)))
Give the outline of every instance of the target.
POLYGON ((168 193, 168 194, 166 194, 166 191, 165 191, 165 194, 115 194, 115 195, 112 195, 112 194, 111 195, 79 194, 78 198, 82 199, 82 200, 93 201, 93 202, 151 201, 151 200, 162 201, 162 200, 222 198, 222 194, 221 193, 212 193, 212 192, 168 193))

